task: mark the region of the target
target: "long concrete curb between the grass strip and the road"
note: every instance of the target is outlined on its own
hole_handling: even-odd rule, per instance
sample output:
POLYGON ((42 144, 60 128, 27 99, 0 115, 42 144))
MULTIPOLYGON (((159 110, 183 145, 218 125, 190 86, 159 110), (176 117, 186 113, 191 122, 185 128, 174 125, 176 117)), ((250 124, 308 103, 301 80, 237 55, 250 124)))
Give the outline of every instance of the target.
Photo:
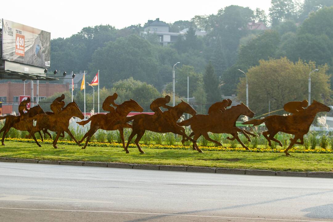
POLYGON ((222 174, 246 174, 260 176, 289 176, 289 177, 321 177, 333 178, 333 172, 294 172, 294 171, 272 171, 272 170, 252 170, 252 169, 230 169, 215 167, 195 167, 195 166, 172 166, 172 165, 151 165, 151 164, 131 164, 131 163, 106 163, 91 161, 59 161, 59 160, 36 160, 0 157, 0 162, 17 163, 41 163, 72 166, 94 166, 94 167, 113 167, 142 170, 167 170, 167 171, 187 171, 200 173, 222 173, 222 174))

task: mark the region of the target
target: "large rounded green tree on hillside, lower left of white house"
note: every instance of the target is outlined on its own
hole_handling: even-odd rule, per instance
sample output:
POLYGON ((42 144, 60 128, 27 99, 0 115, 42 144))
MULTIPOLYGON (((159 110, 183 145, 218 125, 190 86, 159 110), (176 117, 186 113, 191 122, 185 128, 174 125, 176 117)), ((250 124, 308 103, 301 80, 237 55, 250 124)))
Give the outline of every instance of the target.
POLYGON ((89 66, 91 73, 100 70, 107 81, 101 87, 111 88, 112 83, 133 77, 150 84, 160 82, 159 63, 153 45, 137 35, 118 38, 95 51, 89 66))

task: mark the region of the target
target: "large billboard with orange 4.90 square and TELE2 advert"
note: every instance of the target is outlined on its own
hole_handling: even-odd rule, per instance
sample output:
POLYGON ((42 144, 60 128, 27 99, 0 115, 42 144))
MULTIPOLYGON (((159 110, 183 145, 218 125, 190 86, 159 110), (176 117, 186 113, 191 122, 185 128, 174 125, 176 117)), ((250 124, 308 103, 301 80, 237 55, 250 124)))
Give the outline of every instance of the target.
POLYGON ((50 55, 50 32, 3 19, 2 59, 48 68, 50 55))

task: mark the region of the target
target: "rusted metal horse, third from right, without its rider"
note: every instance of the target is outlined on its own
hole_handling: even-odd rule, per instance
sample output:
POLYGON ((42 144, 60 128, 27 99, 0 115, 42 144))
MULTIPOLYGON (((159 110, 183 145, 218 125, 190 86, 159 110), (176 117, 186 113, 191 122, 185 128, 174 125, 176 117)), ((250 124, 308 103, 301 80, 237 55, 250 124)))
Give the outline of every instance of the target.
POLYGON ((193 147, 195 147, 197 151, 202 152, 197 147, 196 141, 185 134, 184 128, 176 124, 177 120, 181 117, 183 113, 188 113, 194 116, 196 114, 196 111, 189 104, 181 100, 181 103, 163 112, 162 114, 138 114, 132 117, 127 117, 125 119, 125 122, 133 120, 133 130, 125 147, 126 153, 129 153, 128 146, 135 135, 137 135, 137 138, 135 139, 135 144, 137 145, 141 153, 145 153, 141 149, 139 142, 142 136, 145 134, 146 130, 157 133, 172 132, 182 135, 188 138, 193 143, 193 147))

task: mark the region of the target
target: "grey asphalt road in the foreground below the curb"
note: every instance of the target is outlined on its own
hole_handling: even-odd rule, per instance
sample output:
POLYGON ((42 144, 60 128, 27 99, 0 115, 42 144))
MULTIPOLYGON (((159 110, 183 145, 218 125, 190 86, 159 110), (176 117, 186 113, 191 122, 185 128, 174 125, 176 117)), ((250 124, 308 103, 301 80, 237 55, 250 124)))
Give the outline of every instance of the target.
POLYGON ((333 179, 0 162, 0 221, 333 221, 333 179))

